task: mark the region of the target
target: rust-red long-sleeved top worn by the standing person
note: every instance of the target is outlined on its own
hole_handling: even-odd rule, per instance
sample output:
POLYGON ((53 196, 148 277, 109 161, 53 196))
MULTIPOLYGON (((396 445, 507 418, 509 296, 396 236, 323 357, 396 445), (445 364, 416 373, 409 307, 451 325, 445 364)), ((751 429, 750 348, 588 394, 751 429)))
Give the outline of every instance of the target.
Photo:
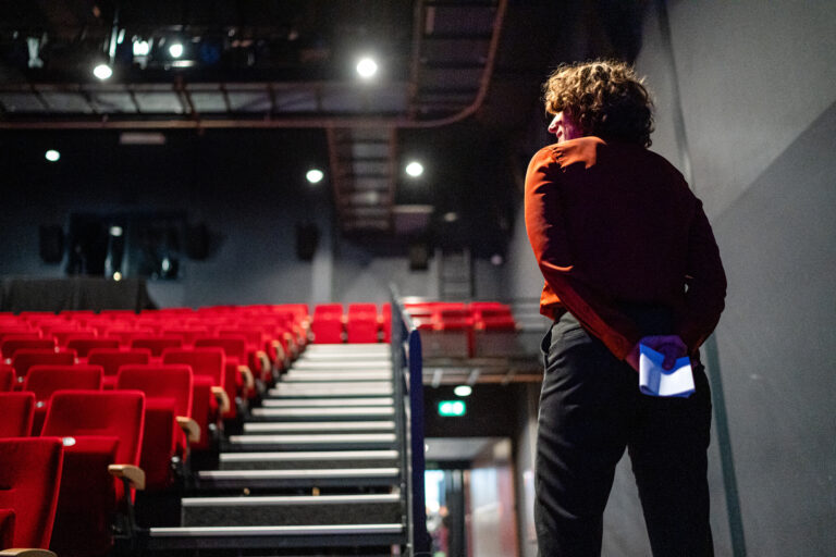
POLYGON ((619 307, 668 307, 691 354, 720 320, 726 276, 702 203, 664 158, 581 137, 540 149, 526 228, 545 286, 540 312, 571 312, 624 359, 641 338, 619 307))

